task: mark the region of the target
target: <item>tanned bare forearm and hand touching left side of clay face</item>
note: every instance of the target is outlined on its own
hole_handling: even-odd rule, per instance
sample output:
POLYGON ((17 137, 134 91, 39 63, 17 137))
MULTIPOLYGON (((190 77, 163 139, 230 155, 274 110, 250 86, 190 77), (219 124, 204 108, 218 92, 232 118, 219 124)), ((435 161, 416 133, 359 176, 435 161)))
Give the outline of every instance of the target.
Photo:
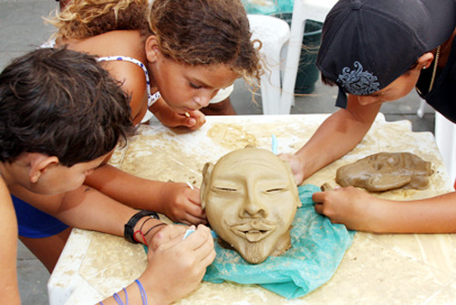
POLYGON ((164 183, 143 179, 110 165, 98 167, 85 184, 135 208, 148 209, 186 224, 206 224, 200 191, 183 183, 164 183))

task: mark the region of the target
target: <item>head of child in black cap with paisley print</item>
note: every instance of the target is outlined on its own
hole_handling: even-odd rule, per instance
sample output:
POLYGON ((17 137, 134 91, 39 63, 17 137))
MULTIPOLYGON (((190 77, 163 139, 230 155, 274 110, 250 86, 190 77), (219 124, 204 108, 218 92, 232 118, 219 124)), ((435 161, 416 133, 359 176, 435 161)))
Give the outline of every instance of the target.
POLYGON ((346 93, 397 100, 415 87, 420 68, 429 67, 433 56, 423 55, 455 26, 454 0, 340 0, 323 25, 316 67, 325 83, 339 88, 337 105, 346 107, 346 93))

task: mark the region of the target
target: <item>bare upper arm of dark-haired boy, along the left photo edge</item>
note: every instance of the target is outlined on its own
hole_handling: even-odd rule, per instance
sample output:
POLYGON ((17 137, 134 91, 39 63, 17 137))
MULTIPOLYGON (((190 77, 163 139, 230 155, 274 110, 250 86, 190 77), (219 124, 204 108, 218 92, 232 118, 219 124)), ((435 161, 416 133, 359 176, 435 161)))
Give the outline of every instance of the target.
POLYGON ((15 208, 5 182, 0 176, 0 303, 20 304, 17 287, 17 223, 15 208))

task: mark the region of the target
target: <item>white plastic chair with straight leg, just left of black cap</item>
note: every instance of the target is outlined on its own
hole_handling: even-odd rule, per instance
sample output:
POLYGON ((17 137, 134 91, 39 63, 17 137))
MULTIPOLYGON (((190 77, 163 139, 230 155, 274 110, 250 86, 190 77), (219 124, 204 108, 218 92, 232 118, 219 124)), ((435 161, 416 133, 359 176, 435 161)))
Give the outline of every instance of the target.
POLYGON ((295 0, 293 17, 291 21, 290 39, 286 52, 284 65, 284 81, 282 82, 282 95, 279 104, 281 114, 290 113, 295 101, 295 82, 299 57, 301 55, 303 36, 306 20, 324 22, 327 13, 336 5, 337 0, 295 0))

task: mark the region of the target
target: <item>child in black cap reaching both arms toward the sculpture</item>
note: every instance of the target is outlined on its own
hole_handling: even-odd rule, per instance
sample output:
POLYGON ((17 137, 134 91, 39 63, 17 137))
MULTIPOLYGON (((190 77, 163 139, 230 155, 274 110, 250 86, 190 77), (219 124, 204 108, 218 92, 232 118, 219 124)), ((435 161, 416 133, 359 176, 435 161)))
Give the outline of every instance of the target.
MULTIPOLYGON (((281 155, 297 184, 354 149, 381 105, 411 89, 456 122, 455 37, 454 0, 339 0, 323 25, 316 66, 326 84, 339 88, 341 109, 295 154, 281 155)), ((456 192, 395 201, 341 187, 313 199, 316 212, 353 230, 456 232, 456 192)))

